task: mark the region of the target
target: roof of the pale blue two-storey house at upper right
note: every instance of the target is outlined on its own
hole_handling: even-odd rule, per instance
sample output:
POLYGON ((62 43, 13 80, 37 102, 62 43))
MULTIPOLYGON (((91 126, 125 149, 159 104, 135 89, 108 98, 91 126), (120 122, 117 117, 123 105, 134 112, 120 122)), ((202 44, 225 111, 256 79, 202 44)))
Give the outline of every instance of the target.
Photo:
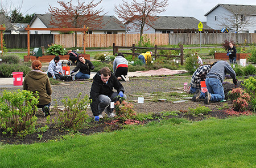
MULTIPOLYGON (((209 12, 207 12, 204 16, 207 16, 210 12, 212 12, 218 6, 226 8, 229 11, 246 11, 246 15, 256 15, 256 6, 255 5, 233 5, 233 4, 218 4, 214 6, 209 12)), ((241 13, 242 14, 242 13, 241 13)))

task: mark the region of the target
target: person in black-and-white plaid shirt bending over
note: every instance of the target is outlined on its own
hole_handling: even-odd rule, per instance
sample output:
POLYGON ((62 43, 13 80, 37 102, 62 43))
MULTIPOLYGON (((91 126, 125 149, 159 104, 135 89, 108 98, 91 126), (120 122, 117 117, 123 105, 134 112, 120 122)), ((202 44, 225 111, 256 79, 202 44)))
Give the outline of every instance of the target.
POLYGON ((206 79, 206 76, 207 76, 208 72, 210 71, 210 68, 214 64, 215 64, 215 62, 213 64, 205 64, 203 66, 200 66, 199 68, 197 68, 197 70, 192 75, 189 93, 190 94, 196 93, 193 96, 192 101, 196 101, 197 98, 205 97, 203 92, 200 93, 200 90, 201 90, 200 82, 206 79), (197 90, 199 90, 199 91, 197 91, 197 90))

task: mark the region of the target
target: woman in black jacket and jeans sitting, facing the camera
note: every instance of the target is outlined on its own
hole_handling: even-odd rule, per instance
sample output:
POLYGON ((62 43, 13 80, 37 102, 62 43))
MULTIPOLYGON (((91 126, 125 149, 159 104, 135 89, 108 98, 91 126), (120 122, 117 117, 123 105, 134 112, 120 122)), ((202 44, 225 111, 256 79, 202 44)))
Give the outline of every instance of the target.
POLYGON ((94 66, 92 62, 84 58, 84 55, 80 54, 79 63, 77 63, 75 69, 72 70, 71 75, 78 70, 80 71, 75 75, 76 79, 89 79, 90 70, 94 70, 94 66))

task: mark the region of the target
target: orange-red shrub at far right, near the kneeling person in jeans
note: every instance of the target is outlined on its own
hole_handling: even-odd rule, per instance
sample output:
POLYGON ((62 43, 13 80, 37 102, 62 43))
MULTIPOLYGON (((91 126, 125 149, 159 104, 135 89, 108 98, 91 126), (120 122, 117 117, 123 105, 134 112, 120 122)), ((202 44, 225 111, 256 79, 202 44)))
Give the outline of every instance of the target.
POLYGON ((248 93, 243 91, 241 88, 235 88, 228 92, 230 100, 233 101, 234 110, 243 111, 247 110, 250 96, 248 93))

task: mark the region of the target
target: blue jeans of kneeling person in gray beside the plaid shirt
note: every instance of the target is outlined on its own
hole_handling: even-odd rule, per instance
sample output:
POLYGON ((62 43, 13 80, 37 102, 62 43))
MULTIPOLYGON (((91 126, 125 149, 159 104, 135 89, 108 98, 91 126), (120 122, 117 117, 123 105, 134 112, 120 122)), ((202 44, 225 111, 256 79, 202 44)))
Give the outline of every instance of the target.
POLYGON ((224 100, 224 88, 220 79, 207 77, 207 79, 205 79, 205 84, 207 85, 207 90, 210 93, 210 101, 224 100))

